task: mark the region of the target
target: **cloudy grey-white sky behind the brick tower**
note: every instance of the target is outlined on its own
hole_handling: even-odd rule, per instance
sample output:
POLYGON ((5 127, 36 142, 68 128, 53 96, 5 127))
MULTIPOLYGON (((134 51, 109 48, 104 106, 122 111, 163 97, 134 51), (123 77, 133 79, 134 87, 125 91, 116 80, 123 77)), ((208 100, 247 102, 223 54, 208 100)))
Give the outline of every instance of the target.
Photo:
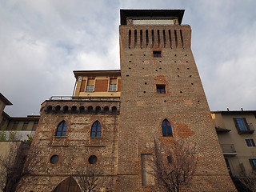
POLYGON ((210 110, 256 110, 254 0, 0 0, 0 92, 10 116, 72 95, 73 70, 118 70, 120 9, 184 9, 210 110))

